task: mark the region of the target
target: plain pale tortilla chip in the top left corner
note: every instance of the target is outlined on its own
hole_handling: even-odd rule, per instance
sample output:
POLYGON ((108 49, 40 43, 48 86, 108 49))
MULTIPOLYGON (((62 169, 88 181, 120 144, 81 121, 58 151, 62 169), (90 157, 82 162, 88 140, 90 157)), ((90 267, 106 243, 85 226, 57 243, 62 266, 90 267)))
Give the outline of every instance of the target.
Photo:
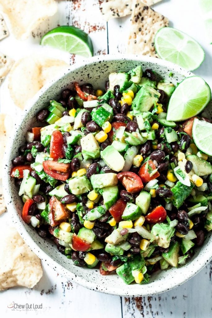
POLYGON ((0 11, 7 15, 14 36, 24 40, 42 21, 57 12, 57 3, 55 0, 0 0, 0 11))

